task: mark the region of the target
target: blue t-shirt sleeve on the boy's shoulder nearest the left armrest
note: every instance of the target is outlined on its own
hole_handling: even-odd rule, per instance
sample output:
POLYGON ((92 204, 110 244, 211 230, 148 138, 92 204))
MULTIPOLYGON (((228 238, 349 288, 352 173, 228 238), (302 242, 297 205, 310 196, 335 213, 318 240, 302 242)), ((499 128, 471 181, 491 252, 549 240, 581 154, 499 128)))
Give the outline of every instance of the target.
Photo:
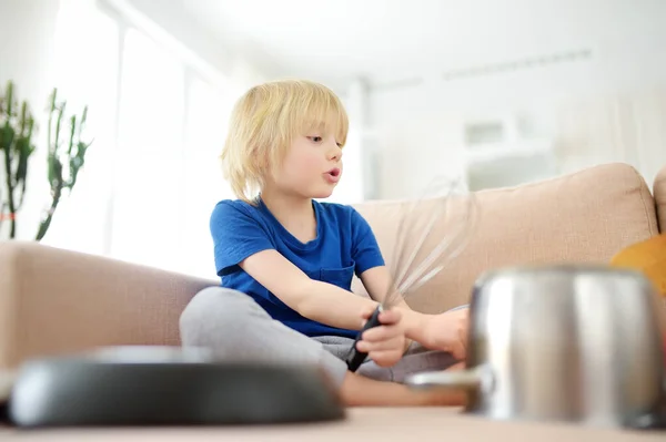
POLYGON ((245 258, 274 248, 263 226, 231 202, 219 203, 210 219, 218 276, 238 270, 245 258))

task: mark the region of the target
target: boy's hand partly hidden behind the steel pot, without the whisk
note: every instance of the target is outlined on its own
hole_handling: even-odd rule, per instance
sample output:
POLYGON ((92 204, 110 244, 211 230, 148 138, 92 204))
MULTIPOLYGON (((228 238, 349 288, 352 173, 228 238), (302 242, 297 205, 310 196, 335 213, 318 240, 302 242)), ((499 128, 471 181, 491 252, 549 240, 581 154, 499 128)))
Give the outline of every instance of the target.
POLYGON ((467 356, 470 308, 446 311, 428 318, 424 323, 424 347, 452 353, 457 360, 467 356))

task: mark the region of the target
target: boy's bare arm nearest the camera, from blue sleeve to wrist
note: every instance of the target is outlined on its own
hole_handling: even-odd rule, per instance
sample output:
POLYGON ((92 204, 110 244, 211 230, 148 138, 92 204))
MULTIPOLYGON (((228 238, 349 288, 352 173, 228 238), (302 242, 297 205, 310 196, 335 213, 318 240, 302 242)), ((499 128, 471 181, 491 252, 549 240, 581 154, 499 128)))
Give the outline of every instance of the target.
POLYGON ((240 267, 300 315, 332 327, 360 330, 362 318, 377 306, 376 301, 311 279, 274 249, 245 258, 240 267))

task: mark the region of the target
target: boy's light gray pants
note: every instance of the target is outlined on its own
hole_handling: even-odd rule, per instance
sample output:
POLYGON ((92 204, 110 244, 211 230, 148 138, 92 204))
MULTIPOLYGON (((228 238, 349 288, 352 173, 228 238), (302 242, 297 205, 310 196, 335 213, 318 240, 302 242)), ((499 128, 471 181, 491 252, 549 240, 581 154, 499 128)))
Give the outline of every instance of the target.
MULTIPOLYGON (((250 296, 222 287, 196 294, 181 315, 180 333, 183 347, 209 348, 219 359, 319 364, 337 386, 347 371, 343 358, 353 345, 353 339, 335 336, 309 338, 272 319, 250 296)), ((455 362, 450 353, 414 342, 393 367, 379 367, 369 359, 357 373, 403 382, 407 374, 444 370, 455 362)))

